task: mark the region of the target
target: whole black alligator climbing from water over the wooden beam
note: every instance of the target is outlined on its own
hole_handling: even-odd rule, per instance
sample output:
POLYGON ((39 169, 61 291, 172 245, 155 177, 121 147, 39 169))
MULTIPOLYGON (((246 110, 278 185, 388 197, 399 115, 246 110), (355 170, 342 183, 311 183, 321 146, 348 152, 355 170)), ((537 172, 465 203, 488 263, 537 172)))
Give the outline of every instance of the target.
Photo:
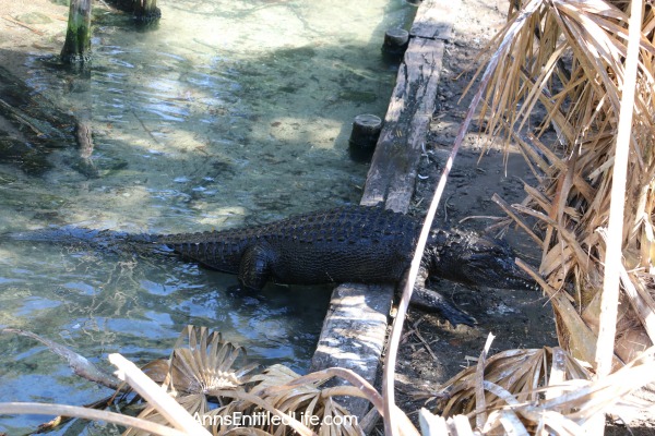
MULTIPOLYGON (((409 268, 421 226, 419 219, 381 206, 346 206, 237 229, 122 233, 120 239, 172 251, 204 267, 237 275, 243 289, 259 291, 270 280, 286 284, 400 283, 409 268)), ((104 243, 111 249, 119 233, 107 238, 107 232, 94 231, 93 238, 112 241, 104 243)), ((428 289, 427 282, 442 278, 471 286, 534 289, 536 283, 515 265, 515 257, 502 241, 433 228, 412 304, 439 312, 453 326, 474 325, 471 315, 428 289)))

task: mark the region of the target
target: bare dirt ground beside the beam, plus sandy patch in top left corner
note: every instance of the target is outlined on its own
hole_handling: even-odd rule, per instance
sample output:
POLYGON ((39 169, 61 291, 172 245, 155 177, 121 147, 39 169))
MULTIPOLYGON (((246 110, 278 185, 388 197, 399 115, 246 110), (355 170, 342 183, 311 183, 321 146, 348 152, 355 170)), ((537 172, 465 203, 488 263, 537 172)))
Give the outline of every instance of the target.
MULTIPOLYGON (((507 10, 504 0, 462 2, 455 20, 455 37, 446 45, 438 110, 426 144, 427 154, 421 159, 420 180, 414 198, 415 213, 427 207, 468 108, 466 99, 457 101, 473 70, 462 73, 475 65, 478 51, 504 23, 507 10)), ((16 75, 29 68, 25 64, 27 53, 49 55, 63 45, 67 7, 49 0, 0 0, 0 11, 1 63, 16 75)), ((496 222, 490 217, 503 216, 491 202, 495 193, 510 204, 523 199, 524 182, 532 183, 534 179, 520 155, 510 152, 505 160, 501 147, 502 143, 493 143, 484 135, 468 135, 439 208, 439 226, 484 230, 496 222), (480 158, 484 147, 488 147, 488 152, 480 158)), ((505 239, 521 257, 537 265, 538 251, 525 234, 510 229, 505 239)), ((479 324, 475 328, 460 326, 453 329, 437 316, 409 313, 398 353, 396 400, 413 421, 425 404, 425 400, 414 400, 414 395, 434 390, 463 367, 475 365, 489 334, 496 336, 491 353, 557 346, 552 313, 539 292, 472 290, 448 282, 439 283, 439 288, 479 324)))

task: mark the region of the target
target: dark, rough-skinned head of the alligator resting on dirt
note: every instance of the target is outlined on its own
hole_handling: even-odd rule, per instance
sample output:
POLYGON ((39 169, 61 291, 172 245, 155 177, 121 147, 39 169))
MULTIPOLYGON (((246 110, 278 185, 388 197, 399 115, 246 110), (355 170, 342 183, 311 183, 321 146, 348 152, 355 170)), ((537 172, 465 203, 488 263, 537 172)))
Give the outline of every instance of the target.
POLYGON ((537 289, 503 241, 460 230, 433 230, 428 250, 431 277, 488 288, 537 289))

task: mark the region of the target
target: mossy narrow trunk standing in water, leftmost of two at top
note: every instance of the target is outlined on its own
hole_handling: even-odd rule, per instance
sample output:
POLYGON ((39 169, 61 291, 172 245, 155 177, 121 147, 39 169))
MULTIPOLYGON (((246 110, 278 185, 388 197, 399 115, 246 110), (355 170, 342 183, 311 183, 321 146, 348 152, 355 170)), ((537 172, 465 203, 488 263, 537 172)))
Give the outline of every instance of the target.
POLYGON ((91 0, 71 0, 61 60, 66 63, 91 60, 91 0))

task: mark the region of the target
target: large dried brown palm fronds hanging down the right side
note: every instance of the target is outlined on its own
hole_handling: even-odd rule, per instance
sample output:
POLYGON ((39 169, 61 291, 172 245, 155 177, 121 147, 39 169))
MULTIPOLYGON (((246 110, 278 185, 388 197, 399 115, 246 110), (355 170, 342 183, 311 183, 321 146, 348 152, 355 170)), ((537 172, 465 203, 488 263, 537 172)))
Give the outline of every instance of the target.
MULTIPOLYGON (((513 205, 520 214, 512 217, 543 250, 539 274, 553 303, 560 344, 587 362, 596 351, 605 270, 606 244, 598 229, 608 226, 616 133, 628 86, 629 7, 604 0, 525 1, 521 11, 511 11, 495 49, 487 50, 495 69, 485 82, 480 116, 488 119, 488 133, 515 140, 540 183, 525 186, 527 197, 513 205), (536 109, 541 113, 532 125, 536 109), (550 140, 549 125, 556 133, 550 140)), ((623 262, 617 266, 623 290, 617 364, 655 342, 655 14, 650 5, 643 10, 623 262)))

